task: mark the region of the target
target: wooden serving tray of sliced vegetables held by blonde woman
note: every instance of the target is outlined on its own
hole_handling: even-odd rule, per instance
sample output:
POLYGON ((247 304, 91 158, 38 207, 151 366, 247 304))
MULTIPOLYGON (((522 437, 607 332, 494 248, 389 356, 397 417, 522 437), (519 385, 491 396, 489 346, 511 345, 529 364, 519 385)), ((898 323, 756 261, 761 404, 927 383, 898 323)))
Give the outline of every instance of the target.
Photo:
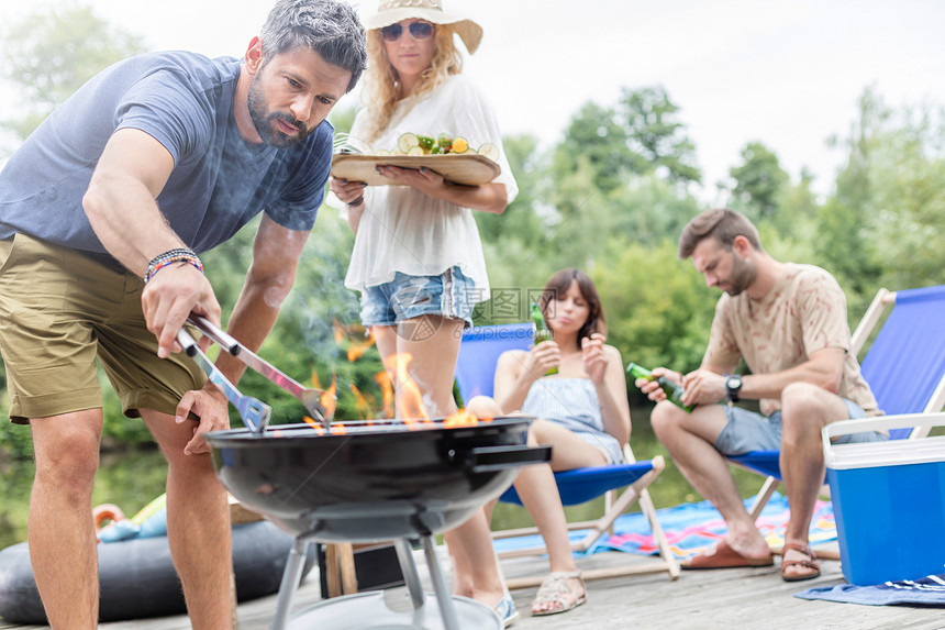
POLYGON ((485 155, 346 155, 332 157, 332 175, 348 181, 364 181, 368 186, 393 186, 393 181, 375 169, 377 166, 400 166, 435 170, 448 181, 477 186, 499 176, 499 165, 485 155))

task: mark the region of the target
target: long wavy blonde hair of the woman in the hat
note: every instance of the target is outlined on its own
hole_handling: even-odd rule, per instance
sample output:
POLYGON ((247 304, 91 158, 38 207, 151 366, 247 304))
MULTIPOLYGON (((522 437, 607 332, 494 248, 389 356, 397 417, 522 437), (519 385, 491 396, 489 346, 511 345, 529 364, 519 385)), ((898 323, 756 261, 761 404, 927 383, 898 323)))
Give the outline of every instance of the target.
MULTIPOLYGON (((423 70, 420 82, 409 97, 412 102, 415 103, 423 95, 435 90, 451 75, 458 75, 463 70, 463 56, 453 42, 454 32, 449 24, 436 24, 436 52, 430 67, 423 70)), ((409 35, 404 33, 402 36, 409 35)), ((400 82, 397 70, 387 58, 380 29, 367 33, 367 59, 363 100, 367 106, 369 123, 365 140, 374 143, 390 125, 393 110, 400 101, 400 82)))

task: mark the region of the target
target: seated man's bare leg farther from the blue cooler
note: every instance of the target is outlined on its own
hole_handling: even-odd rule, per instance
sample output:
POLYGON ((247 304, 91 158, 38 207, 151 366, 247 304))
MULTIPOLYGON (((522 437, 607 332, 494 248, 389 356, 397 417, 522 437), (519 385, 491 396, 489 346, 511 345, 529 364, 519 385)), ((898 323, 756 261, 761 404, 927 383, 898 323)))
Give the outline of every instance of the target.
POLYGON ((745 510, 725 457, 713 445, 725 427, 724 410, 712 405, 687 413, 664 401, 654 408, 651 422, 692 487, 725 519, 730 546, 745 557, 766 557, 770 553, 768 543, 745 510))

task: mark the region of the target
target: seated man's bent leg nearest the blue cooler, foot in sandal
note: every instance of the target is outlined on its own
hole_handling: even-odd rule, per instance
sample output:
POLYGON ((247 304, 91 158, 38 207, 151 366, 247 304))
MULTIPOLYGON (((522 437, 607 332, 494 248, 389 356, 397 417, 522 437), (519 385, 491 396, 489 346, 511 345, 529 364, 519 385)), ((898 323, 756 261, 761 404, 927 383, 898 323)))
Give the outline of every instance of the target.
MULTIPOLYGON (((785 530, 785 542, 807 545, 811 518, 818 494, 824 482, 823 444, 821 429, 835 420, 847 418, 843 400, 814 385, 796 383, 781 394, 781 476, 791 519, 785 530)), ((783 561, 805 560, 793 550, 786 550, 783 561)), ((788 566, 787 575, 805 575, 814 571, 801 565, 788 566)))

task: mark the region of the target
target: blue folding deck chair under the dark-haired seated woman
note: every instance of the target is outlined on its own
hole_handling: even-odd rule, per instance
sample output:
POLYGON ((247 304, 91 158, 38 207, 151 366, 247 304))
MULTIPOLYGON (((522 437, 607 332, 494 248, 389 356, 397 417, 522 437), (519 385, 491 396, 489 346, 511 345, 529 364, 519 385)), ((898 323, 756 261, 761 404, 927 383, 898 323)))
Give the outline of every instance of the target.
MULTIPOLYGON (((527 350, 532 345, 533 324, 514 323, 486 325, 466 330, 459 345, 459 357, 456 362, 456 383, 464 401, 474 396, 492 396, 496 363, 507 350, 527 350)), ((653 537, 659 549, 658 562, 633 563, 613 568, 590 570, 582 572, 585 579, 633 575, 640 573, 668 572, 671 579, 679 575, 679 563, 669 549, 669 543, 663 533, 663 528, 656 518, 656 509, 646 487, 664 468, 662 456, 653 460, 636 462, 629 445, 624 445, 625 464, 609 466, 592 466, 555 473, 562 504, 574 506, 605 496, 604 513, 597 520, 568 523, 568 530, 589 530, 589 532, 571 548, 576 551, 587 551, 604 531, 612 531, 613 521, 634 502, 640 504, 641 511, 646 516, 653 530, 653 537), (626 488, 618 496, 616 489, 626 488)), ((522 505, 514 487, 510 487, 499 500, 522 505)), ((493 538, 512 538, 534 534, 536 528, 523 528, 493 532, 493 538)), ((544 546, 525 550, 514 550, 499 553, 500 557, 534 555, 545 553, 544 546)), ((544 576, 530 576, 510 579, 509 588, 525 588, 537 586, 544 576)))

